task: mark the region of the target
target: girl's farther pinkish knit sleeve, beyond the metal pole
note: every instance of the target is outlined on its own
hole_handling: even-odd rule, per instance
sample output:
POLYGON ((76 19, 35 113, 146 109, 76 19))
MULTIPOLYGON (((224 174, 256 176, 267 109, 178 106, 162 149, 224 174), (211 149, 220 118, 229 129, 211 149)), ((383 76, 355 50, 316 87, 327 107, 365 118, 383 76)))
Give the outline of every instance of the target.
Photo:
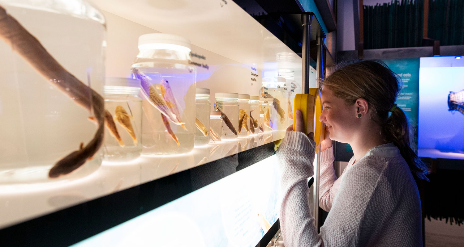
POLYGON ((327 212, 332 208, 332 202, 341 181, 335 176, 334 160, 333 146, 321 152, 319 206, 327 212))

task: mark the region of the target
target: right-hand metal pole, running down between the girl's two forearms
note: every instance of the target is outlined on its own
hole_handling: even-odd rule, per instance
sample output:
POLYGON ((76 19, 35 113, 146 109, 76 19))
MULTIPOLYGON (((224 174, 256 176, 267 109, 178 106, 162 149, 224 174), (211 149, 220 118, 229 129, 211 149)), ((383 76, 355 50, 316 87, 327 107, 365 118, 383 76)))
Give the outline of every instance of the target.
MULTIPOLYGON (((316 79, 317 87, 321 89, 322 87, 322 77, 324 76, 324 38, 317 37, 317 58, 316 58, 316 79)), ((318 121, 316 119, 316 121, 318 121)), ((314 219, 316 227, 319 228, 319 176, 320 176, 320 167, 321 167, 321 147, 319 146, 319 152, 317 152, 316 167, 314 167, 314 219)))

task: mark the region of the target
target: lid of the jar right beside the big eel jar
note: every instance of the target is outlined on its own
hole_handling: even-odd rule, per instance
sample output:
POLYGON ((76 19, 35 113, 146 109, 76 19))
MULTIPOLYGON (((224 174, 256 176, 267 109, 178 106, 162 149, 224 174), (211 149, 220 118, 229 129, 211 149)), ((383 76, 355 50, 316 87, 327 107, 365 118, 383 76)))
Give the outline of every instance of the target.
POLYGON ((106 77, 103 92, 105 94, 137 95, 140 91, 140 80, 122 77, 106 77))

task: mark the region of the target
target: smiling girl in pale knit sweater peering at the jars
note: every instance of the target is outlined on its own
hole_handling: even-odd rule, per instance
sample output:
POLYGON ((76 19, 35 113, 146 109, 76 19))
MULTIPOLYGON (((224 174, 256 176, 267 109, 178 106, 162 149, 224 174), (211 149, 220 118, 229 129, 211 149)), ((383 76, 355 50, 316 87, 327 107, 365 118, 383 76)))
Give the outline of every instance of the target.
POLYGON ((277 150, 286 247, 422 246, 414 178, 427 179, 427 171, 411 149, 406 115, 394 104, 400 89, 396 74, 376 60, 347 65, 324 80, 320 205, 329 215, 320 234, 308 204, 314 134, 302 132, 301 112, 296 112, 296 131, 290 126, 277 150), (331 140, 348 143, 354 152, 338 179, 331 140))

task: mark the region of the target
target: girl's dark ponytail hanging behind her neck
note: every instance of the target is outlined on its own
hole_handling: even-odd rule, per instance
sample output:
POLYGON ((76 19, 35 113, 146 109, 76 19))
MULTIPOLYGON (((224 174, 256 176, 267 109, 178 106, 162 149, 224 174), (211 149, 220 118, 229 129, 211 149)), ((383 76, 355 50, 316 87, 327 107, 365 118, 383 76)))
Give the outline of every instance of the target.
POLYGON ((396 107, 388 117, 387 122, 382 127, 382 136, 387 142, 393 142, 400 149, 401 156, 406 160, 415 178, 429 181, 427 166, 420 160, 412 150, 411 143, 414 141, 414 134, 411 133, 409 122, 403 110, 396 107))

